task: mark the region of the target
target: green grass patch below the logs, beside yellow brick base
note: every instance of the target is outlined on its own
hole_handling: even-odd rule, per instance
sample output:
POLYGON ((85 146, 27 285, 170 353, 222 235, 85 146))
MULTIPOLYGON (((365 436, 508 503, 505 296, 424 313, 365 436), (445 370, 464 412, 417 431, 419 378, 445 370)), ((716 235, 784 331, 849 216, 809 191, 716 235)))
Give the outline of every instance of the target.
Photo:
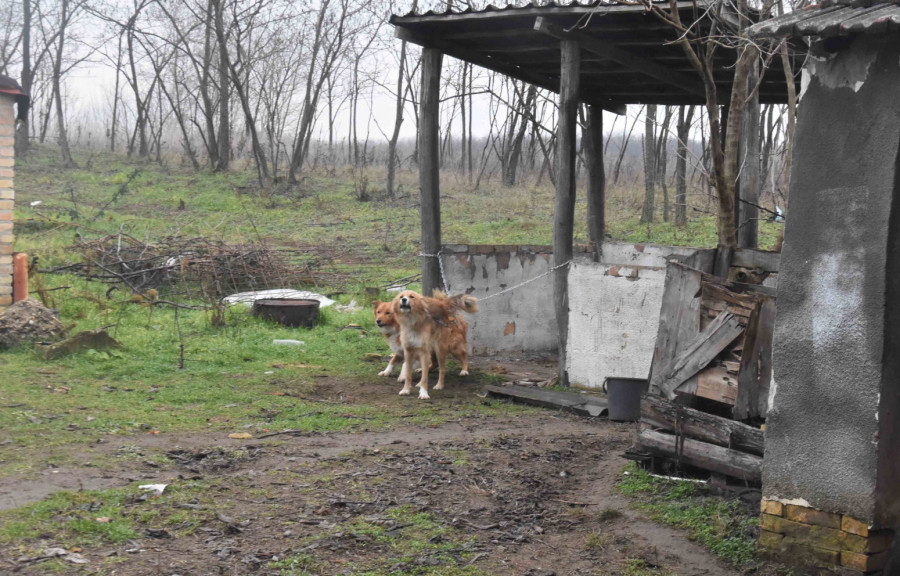
POLYGON ((727 562, 743 567, 757 560, 757 514, 739 499, 708 496, 692 482, 655 478, 634 464, 625 468, 617 488, 651 518, 687 530, 727 562))

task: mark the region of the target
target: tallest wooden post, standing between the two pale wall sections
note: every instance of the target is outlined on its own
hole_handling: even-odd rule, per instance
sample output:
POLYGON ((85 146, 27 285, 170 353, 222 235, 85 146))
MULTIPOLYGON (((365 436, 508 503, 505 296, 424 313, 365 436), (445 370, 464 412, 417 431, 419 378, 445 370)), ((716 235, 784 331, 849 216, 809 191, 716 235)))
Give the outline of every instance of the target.
POLYGON ((569 385, 566 345, 569 332, 569 266, 575 228, 575 131, 581 49, 577 42, 560 43, 559 120, 556 125, 556 202, 553 213, 553 300, 559 329, 559 384, 569 385))

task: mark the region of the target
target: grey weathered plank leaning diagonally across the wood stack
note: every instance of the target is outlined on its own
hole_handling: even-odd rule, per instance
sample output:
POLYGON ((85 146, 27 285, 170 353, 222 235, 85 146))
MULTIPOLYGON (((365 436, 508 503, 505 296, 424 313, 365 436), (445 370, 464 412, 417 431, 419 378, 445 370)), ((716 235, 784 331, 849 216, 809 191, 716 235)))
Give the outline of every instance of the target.
POLYGON ((657 385, 660 392, 669 400, 673 400, 675 389, 682 382, 705 368, 743 331, 744 327, 734 314, 730 312, 719 314, 666 368, 659 372, 657 385))

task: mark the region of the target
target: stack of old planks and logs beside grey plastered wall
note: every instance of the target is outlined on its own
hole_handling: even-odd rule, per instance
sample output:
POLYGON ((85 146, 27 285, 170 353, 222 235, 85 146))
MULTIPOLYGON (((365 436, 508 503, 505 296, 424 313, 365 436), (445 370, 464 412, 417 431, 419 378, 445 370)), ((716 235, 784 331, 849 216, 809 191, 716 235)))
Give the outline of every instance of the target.
POLYGON ((759 482, 774 321, 774 289, 670 263, 639 450, 759 482))

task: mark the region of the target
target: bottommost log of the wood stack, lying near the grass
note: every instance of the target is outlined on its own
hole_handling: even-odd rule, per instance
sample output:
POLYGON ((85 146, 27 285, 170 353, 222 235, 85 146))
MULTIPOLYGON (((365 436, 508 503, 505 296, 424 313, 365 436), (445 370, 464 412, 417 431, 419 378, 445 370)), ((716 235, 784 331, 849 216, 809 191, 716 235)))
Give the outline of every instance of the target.
MULTIPOLYGON (((677 440, 670 434, 642 429, 637 443, 649 452, 676 458, 677 440)), ((762 477, 762 458, 759 456, 698 440, 684 439, 683 444, 678 443, 681 445, 680 460, 685 464, 750 482, 759 482, 762 477)))

